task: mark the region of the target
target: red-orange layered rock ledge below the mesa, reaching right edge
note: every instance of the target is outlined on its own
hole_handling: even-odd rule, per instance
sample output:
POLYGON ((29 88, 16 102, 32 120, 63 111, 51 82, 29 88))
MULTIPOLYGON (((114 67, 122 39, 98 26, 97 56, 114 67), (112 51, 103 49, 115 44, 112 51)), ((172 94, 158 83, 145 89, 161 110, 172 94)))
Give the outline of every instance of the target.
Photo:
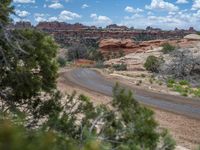
POLYGON ((200 40, 200 36, 196 34, 190 34, 184 39, 160 39, 140 42, 131 39, 111 38, 100 40, 99 50, 104 54, 104 56, 108 56, 109 54, 113 55, 112 53, 114 53, 114 55, 117 55, 120 51, 123 51, 124 54, 141 53, 154 48, 159 48, 164 43, 169 43, 176 47, 186 48, 188 46, 192 46, 193 42, 198 40, 200 40))

